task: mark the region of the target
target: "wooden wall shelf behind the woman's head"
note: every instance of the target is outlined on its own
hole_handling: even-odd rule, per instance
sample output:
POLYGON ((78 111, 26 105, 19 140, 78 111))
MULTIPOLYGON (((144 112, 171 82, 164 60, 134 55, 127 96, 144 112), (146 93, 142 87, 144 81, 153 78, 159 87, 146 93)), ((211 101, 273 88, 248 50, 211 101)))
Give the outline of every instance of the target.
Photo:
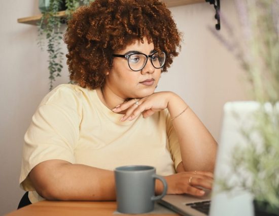
MULTIPOLYGON (((182 5, 191 5, 196 3, 202 3, 205 2, 205 0, 162 0, 167 7, 176 7, 176 6, 182 6, 182 5)), ((65 11, 59 11, 57 14, 58 17, 65 18, 65 11)), ((31 24, 31 25, 37 25, 37 23, 42 18, 42 14, 36 15, 36 16, 30 16, 30 17, 23 17, 18 18, 18 23, 25 23, 25 24, 31 24)))

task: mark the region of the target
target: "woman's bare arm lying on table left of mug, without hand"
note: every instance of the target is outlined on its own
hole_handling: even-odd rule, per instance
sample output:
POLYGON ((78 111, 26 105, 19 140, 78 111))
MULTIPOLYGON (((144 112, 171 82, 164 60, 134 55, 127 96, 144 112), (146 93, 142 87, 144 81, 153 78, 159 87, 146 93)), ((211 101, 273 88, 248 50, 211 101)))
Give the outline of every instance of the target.
POLYGON ((115 200, 114 172, 62 160, 35 166, 29 178, 47 200, 115 200))

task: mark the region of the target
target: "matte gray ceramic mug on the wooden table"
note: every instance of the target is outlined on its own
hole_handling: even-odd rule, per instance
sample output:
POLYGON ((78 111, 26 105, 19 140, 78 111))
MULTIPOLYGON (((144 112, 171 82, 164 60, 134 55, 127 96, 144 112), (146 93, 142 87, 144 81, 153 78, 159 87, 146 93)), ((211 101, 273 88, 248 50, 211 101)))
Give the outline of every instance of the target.
POLYGON ((115 169, 117 211, 146 213, 154 209, 154 201, 165 196, 166 180, 156 175, 151 166, 123 166, 115 169), (162 181, 163 193, 155 196, 155 179, 162 181))

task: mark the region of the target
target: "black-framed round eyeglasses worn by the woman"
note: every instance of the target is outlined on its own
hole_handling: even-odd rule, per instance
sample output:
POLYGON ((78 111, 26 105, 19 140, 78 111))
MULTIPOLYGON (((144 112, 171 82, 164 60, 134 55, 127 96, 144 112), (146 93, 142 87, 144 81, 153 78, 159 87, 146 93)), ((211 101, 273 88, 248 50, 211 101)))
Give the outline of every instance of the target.
POLYGON ((148 58, 150 58, 153 67, 157 69, 162 68, 166 60, 166 54, 164 52, 154 52, 151 55, 138 52, 127 55, 113 54, 113 56, 126 58, 129 68, 132 71, 141 71, 146 66, 148 58))

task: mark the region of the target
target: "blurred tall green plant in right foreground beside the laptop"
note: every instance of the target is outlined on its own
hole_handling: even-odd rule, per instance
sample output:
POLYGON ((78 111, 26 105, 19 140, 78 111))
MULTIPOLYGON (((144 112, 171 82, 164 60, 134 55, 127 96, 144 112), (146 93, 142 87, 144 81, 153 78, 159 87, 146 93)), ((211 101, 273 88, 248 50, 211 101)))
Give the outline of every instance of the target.
POLYGON ((235 3, 244 32, 241 43, 233 37, 223 14, 224 29, 231 38, 211 30, 240 60, 251 84, 251 95, 260 108, 254 116, 255 125, 239 131, 246 143, 235 148, 230 160, 237 181, 217 180, 223 190, 238 187, 251 192, 255 215, 279 215, 279 1, 235 3))

